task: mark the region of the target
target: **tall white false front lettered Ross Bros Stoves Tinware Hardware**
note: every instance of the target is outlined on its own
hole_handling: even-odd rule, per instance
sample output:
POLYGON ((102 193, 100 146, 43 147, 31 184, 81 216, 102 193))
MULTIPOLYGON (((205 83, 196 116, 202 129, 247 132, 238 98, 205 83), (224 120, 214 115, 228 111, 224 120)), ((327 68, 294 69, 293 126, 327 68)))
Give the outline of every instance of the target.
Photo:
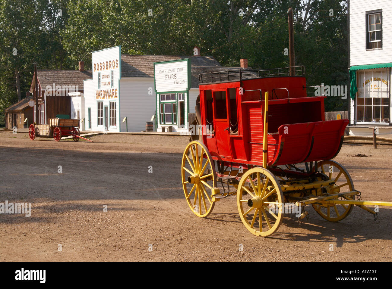
POLYGON ((94 94, 96 99, 118 98, 121 74, 121 47, 116 46, 92 53, 94 94))

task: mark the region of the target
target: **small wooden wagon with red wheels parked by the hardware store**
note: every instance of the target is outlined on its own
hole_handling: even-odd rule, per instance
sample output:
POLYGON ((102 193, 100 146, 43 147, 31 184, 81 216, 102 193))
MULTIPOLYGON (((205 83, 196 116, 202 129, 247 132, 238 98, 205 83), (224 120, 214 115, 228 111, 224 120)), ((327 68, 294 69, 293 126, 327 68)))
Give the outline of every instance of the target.
MULTIPOLYGON (((85 139, 80 136, 79 119, 49 118, 48 125, 31 124, 29 127, 29 137, 34 140, 35 137, 53 137, 55 141, 60 141, 62 137, 72 136, 73 141, 85 139)), ((93 142, 93 141, 91 141, 93 142)))

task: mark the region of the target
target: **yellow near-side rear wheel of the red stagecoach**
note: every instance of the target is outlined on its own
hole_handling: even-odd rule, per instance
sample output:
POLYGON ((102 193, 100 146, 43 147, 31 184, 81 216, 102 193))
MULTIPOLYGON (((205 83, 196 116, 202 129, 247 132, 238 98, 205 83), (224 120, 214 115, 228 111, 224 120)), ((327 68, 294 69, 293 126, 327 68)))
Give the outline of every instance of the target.
POLYGON ((214 208, 211 188, 216 187, 214 161, 207 147, 199 141, 191 141, 182 155, 182 187, 192 212, 207 217, 214 208))

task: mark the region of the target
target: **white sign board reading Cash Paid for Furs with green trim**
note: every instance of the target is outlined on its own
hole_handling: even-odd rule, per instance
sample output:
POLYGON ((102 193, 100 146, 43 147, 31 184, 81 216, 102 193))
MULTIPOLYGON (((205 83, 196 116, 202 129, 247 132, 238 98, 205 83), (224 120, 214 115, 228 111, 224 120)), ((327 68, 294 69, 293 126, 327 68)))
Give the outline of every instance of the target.
POLYGON ((191 59, 154 63, 156 92, 188 90, 191 84, 191 59))

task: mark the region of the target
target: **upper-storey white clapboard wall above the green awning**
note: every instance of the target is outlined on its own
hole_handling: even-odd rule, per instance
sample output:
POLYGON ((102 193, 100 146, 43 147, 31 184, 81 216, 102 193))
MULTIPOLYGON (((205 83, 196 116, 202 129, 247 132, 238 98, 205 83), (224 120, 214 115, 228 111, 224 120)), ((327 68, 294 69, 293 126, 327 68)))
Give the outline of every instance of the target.
POLYGON ((350 0, 350 65, 392 62, 391 0, 350 0), (382 49, 366 50, 366 11, 382 9, 382 49))

